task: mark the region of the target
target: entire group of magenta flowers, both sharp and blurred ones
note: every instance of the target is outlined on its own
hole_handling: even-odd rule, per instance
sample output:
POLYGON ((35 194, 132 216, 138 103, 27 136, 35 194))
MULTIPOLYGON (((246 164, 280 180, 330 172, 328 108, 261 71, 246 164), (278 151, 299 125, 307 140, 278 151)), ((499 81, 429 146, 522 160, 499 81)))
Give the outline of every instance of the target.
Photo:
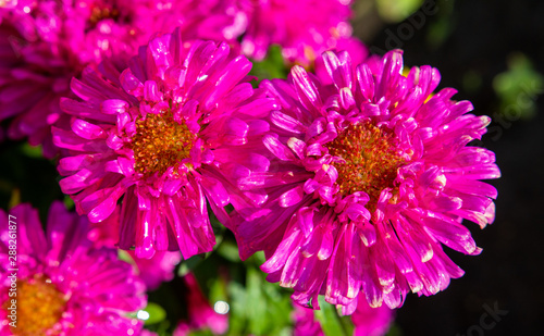
MULTIPOLYGON (((383 335, 408 293, 434 295, 460 277, 443 247, 479 254, 463 221, 483 228, 495 215, 497 190, 482 181, 500 172, 492 151, 471 144, 490 119, 453 100, 455 89, 437 90, 436 69, 406 71, 401 50, 369 57, 351 36, 350 4, 0 9, 0 121, 8 138, 60 154, 59 184, 77 212, 53 202, 44 234, 30 206, 10 211, 20 223, 22 328, 3 323, 0 335, 152 334, 129 314, 180 262, 213 251, 215 220, 243 260, 263 251, 267 279, 293 290, 295 335, 324 334, 308 309, 320 309, 319 296, 351 315, 355 335, 383 335), (251 76, 250 60, 272 45, 288 77, 251 76)), ((187 319, 174 335, 225 333, 227 309, 213 311, 195 274, 176 281, 187 319)))

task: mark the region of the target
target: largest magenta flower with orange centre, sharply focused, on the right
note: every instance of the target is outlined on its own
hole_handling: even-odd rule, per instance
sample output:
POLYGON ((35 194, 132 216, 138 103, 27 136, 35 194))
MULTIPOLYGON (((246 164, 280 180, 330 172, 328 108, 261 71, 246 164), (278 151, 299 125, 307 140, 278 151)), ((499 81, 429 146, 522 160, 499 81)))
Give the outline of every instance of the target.
POLYGON ((268 195, 259 217, 234 217, 240 256, 264 250, 270 282, 302 306, 324 295, 346 314, 359 295, 396 308, 410 290, 445 289, 462 271, 442 245, 478 254, 461 221, 494 220, 497 191, 479 179, 499 177, 495 155, 467 146, 490 119, 468 114, 452 88, 433 96, 436 69, 403 76, 398 50, 356 71, 347 52, 323 62, 333 91, 300 66, 262 83, 281 104, 262 139, 273 170, 238 181, 268 195))

